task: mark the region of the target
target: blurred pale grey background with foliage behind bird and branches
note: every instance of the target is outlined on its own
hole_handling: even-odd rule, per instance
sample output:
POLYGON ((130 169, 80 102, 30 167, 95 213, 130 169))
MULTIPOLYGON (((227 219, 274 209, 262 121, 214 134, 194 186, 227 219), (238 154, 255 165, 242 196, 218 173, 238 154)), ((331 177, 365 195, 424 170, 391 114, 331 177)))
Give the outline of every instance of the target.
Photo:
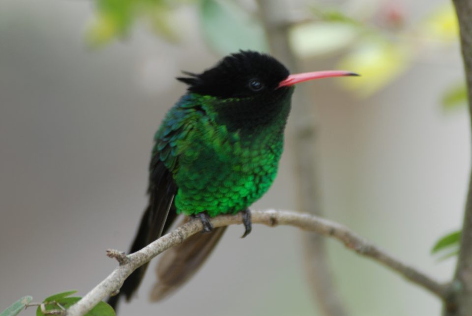
MULTIPOLYGON (((174 78, 239 48, 268 50, 252 0, 113 3, 0 0, 0 310, 23 295, 84 295, 104 279, 116 266, 105 250, 128 249, 146 206, 153 134, 185 91, 174 78)), ((449 280, 455 258, 430 250, 460 228, 470 168, 452 6, 289 5, 299 70, 363 76, 297 89, 316 109, 324 216, 449 280)), ((279 174, 253 208, 297 209, 295 125, 289 119, 279 174)), ((300 231, 241 233, 231 227, 196 277, 160 304, 148 302, 150 268, 120 315, 322 315, 300 231)), ((440 315, 433 295, 336 241, 327 245, 349 315, 440 315)))

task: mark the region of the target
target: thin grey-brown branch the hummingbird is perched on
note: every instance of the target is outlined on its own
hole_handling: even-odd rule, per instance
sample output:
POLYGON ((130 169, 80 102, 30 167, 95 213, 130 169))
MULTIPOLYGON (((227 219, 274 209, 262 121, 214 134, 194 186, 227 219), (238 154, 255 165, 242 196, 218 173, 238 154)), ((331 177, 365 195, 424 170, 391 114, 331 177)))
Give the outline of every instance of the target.
MULTIPOLYGON (((349 249, 354 250, 362 256, 369 257, 382 263, 400 275, 403 275, 409 281, 429 290, 440 298, 444 298, 447 293, 448 286, 446 284, 442 284, 408 264, 395 259, 379 247, 356 234, 354 231, 349 230, 340 224, 317 216, 291 211, 251 211, 251 214, 252 222, 254 224, 264 224, 270 227, 277 225, 295 226, 303 230, 309 230, 324 236, 336 238, 344 243, 349 249)), ((211 224, 213 224, 213 227, 215 228, 242 224, 242 217, 241 214, 220 215, 212 218, 211 224)), ((109 253, 114 254, 112 257, 117 257, 117 259, 119 259, 119 266, 105 280, 89 291, 89 293, 87 293, 79 302, 71 306, 67 311, 67 315, 83 316, 87 314, 101 300, 112 293, 117 293, 124 280, 138 267, 156 257, 163 251, 177 244, 181 244, 185 239, 198 233, 202 229, 203 227, 200 221, 190 221, 160 237, 140 251, 126 256, 127 259, 123 259, 117 251, 109 251, 109 253)))

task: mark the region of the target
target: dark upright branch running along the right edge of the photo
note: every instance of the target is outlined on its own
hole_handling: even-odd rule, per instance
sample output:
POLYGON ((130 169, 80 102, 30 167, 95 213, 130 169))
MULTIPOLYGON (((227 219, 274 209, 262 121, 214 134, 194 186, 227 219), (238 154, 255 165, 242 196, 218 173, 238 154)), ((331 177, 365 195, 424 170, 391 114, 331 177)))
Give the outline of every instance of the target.
MULTIPOLYGON (((453 0, 453 2, 459 20, 462 57, 469 95, 469 113, 472 117, 472 0, 453 0)), ((472 173, 461 236, 453 291, 444 306, 443 315, 447 316, 472 315, 472 173)))

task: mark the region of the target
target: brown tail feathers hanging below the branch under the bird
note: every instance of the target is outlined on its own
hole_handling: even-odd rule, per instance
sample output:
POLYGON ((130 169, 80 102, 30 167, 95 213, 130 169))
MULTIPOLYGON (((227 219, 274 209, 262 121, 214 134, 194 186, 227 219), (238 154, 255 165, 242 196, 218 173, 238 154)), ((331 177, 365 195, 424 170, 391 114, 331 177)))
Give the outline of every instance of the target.
MULTIPOLYGON (((183 223, 186 221, 188 218, 183 219, 183 223)), ((220 227, 210 233, 197 233, 164 252, 156 266, 157 281, 150 292, 150 300, 160 301, 190 280, 211 254, 225 230, 226 227, 220 227)))

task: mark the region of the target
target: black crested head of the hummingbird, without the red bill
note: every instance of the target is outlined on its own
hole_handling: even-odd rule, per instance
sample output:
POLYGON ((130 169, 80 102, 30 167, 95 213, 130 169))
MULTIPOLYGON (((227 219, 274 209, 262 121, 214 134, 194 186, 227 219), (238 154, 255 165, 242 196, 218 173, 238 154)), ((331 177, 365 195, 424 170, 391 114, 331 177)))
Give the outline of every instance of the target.
POLYGON ((274 91, 289 76, 277 59, 254 51, 239 51, 220 60, 201 74, 184 72, 177 80, 188 91, 220 98, 244 98, 274 91))

